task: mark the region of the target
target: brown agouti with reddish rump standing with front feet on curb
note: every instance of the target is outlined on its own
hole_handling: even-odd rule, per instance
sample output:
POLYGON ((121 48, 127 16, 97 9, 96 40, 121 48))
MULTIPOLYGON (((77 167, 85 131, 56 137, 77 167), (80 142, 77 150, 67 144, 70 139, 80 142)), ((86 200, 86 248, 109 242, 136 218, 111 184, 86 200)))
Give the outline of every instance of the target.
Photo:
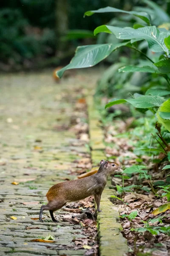
POLYGON ((58 222, 53 212, 62 208, 67 202, 78 201, 94 195, 97 211, 100 210, 100 198, 105 188, 108 176, 120 170, 117 163, 101 160, 96 174, 79 180, 65 181, 52 186, 46 195, 48 204, 42 205, 39 219, 42 222, 43 210, 49 210, 54 222, 58 222))

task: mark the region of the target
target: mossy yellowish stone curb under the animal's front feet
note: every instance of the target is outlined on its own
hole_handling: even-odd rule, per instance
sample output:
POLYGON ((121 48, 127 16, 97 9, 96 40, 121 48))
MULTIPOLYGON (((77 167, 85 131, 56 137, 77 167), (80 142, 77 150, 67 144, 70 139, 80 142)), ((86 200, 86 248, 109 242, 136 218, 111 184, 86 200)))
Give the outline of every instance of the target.
MULTIPOLYGON (((99 112, 95 108, 93 96, 87 97, 88 104, 88 122, 91 146, 91 160, 93 166, 99 164, 100 160, 105 159, 105 145, 103 143, 103 133, 99 126, 99 112)), ((109 189, 111 180, 102 193, 100 202, 100 212, 97 215, 99 225, 99 254, 100 256, 123 256, 128 252, 127 241, 120 232, 122 225, 117 222, 119 220, 119 209, 111 203, 110 196, 115 193, 109 189)))

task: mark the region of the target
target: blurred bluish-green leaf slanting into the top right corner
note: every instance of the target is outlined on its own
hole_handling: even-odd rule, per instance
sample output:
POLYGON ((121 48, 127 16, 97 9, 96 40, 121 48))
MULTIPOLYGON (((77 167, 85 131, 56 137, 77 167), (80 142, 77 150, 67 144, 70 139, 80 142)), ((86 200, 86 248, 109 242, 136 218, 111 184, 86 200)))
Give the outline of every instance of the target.
POLYGON ((159 17, 160 21, 163 22, 170 22, 170 17, 167 13, 159 7, 156 3, 150 0, 143 0, 144 3, 147 3, 148 6, 154 9, 155 16, 159 17))

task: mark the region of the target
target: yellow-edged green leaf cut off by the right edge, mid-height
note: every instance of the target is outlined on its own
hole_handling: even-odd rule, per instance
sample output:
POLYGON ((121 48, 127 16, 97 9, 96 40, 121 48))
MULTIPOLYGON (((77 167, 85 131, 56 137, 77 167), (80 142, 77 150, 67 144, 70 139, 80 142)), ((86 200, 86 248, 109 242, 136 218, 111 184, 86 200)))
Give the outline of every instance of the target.
POLYGON ((158 109, 157 113, 156 113, 157 117, 158 117, 158 121, 164 125, 164 127, 170 131, 170 98, 165 101, 164 103, 162 103, 162 105, 160 106, 160 108, 158 109))

